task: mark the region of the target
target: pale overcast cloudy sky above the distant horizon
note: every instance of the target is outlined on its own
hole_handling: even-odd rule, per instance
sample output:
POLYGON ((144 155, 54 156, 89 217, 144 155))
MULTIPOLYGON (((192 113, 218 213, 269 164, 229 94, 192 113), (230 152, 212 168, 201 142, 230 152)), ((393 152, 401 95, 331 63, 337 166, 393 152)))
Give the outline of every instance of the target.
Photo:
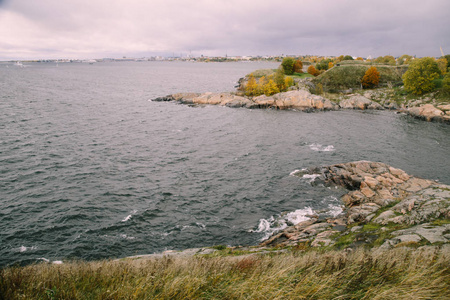
POLYGON ((450 53, 449 0, 0 0, 0 60, 450 53))

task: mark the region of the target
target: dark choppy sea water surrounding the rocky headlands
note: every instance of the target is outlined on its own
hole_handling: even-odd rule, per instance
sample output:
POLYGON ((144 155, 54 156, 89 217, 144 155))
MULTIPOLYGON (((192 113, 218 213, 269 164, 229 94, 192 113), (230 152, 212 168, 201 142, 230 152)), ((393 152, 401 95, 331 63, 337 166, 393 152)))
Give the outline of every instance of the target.
POLYGON ((450 184, 448 125, 148 101, 276 66, 0 65, 0 266, 257 244, 339 211, 342 191, 289 175, 310 166, 381 161, 450 184))

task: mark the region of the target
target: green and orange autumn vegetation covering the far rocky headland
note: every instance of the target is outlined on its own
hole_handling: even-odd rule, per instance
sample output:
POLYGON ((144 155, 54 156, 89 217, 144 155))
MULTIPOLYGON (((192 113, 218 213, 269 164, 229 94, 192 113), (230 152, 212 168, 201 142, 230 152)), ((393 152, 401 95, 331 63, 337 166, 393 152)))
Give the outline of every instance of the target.
MULTIPOLYGON (((354 59, 349 55, 338 57, 285 57, 280 64, 285 75, 294 79, 294 85, 299 85, 298 79, 305 79, 306 76, 315 77, 311 84, 306 87, 314 94, 331 94, 330 98, 335 99, 339 94, 357 92, 363 89, 391 89, 399 104, 402 99, 417 99, 418 96, 435 93, 433 98, 439 101, 448 99, 450 95, 448 85, 448 70, 450 55, 442 56, 439 59, 425 57, 415 58, 404 54, 398 58, 391 55, 380 56, 375 59, 354 59), (303 73, 303 67, 306 72, 303 73)), ((272 70, 275 74, 276 70, 272 70)), ((254 72, 256 78, 258 71, 254 72)), ((269 84, 269 80, 264 78, 264 82, 257 82, 261 86, 269 84)), ((274 80, 275 81, 275 80, 274 80)), ((277 88, 270 83, 271 88, 259 88, 259 92, 253 92, 254 82, 250 84, 247 96, 257 96, 261 94, 273 95, 286 91, 291 87, 289 84, 281 84, 280 80, 275 81, 277 88)), ((304 82, 302 83, 304 85, 304 82)), ((258 90, 258 89, 256 89, 258 90)), ((442 101, 441 101, 442 102, 442 101)))

